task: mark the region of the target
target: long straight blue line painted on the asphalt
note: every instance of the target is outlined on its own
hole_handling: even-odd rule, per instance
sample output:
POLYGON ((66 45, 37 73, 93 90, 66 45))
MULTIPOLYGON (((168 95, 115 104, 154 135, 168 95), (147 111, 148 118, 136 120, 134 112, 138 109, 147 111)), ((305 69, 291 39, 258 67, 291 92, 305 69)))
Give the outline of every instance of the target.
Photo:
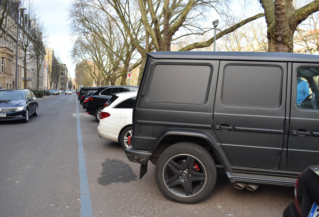
POLYGON ((78 134, 78 154, 79 154, 79 175, 80 175, 80 193, 81 193, 81 213, 82 217, 93 217, 91 197, 89 190, 89 183, 87 181, 84 149, 82 143, 81 127, 80 127, 80 116, 79 108, 76 99, 76 122, 77 122, 77 134, 78 134))

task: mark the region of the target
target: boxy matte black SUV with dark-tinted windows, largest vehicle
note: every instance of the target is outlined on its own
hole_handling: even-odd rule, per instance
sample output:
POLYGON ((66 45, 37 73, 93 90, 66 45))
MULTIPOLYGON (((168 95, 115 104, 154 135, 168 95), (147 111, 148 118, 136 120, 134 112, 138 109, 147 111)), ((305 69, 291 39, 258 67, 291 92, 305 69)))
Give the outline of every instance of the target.
POLYGON ((159 189, 195 203, 216 165, 231 182, 294 186, 319 164, 319 58, 250 52, 148 54, 127 158, 155 164, 159 189))

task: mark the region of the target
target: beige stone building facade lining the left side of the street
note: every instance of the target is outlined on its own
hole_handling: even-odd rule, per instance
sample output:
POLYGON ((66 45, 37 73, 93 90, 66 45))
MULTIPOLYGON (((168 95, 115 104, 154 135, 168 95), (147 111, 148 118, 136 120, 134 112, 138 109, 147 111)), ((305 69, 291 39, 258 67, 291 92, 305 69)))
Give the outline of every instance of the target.
MULTIPOLYGON (((0 87, 14 89, 32 88, 37 87, 37 65, 32 52, 28 51, 26 68, 24 67, 23 57, 24 52, 22 49, 22 42, 20 40, 21 34, 25 31, 18 31, 18 17, 19 29, 25 28, 25 20, 29 20, 28 15, 24 15, 24 10, 20 10, 19 1, 7 1, 6 5, 0 6, 0 12, 6 10, 4 22, 0 26, 0 87), (18 16, 18 12, 21 16, 18 16), (17 43, 18 41, 18 43, 17 43), (18 55, 17 55, 18 44, 18 55), (18 58, 17 58, 18 56, 18 58), (17 64, 16 64, 17 62, 17 64), (17 65, 17 71, 16 71, 17 65), (26 85, 24 85, 24 72, 26 71, 26 85), (16 79, 17 74, 17 79, 16 79)), ((31 47, 31 46, 30 46, 31 47)), ((43 62, 44 66, 44 62, 43 62)), ((42 67, 39 73, 39 89, 44 89, 44 76, 45 68, 42 67)))

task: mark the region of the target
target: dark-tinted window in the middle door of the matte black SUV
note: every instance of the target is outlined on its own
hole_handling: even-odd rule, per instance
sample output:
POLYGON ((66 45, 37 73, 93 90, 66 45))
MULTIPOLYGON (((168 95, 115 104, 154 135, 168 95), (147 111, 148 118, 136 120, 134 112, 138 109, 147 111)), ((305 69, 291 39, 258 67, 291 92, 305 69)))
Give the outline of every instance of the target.
POLYGON ((279 66, 226 65, 222 103, 228 106, 277 108, 281 103, 282 73, 279 66))

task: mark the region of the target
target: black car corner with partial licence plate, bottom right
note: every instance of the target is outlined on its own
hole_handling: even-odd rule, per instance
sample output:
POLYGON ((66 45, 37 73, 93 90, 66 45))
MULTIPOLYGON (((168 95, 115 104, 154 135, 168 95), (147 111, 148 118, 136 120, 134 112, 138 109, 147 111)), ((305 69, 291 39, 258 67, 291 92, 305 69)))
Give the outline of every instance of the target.
POLYGON ((319 165, 307 167, 296 180, 294 202, 283 211, 283 217, 319 216, 319 165))

